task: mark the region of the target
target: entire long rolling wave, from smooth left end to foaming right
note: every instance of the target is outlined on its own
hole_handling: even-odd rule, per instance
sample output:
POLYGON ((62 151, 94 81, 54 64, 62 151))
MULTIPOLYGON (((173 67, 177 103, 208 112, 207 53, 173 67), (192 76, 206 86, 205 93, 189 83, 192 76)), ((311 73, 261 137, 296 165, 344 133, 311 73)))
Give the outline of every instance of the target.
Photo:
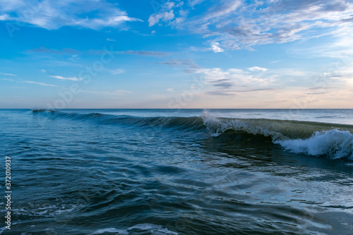
POLYGON ((296 154, 353 160, 353 126, 351 125, 276 119, 229 119, 210 116, 208 112, 194 117, 76 114, 50 109, 33 109, 32 112, 46 114, 53 118, 94 120, 102 124, 205 131, 212 137, 255 135, 259 138, 270 138, 274 144, 296 154))

